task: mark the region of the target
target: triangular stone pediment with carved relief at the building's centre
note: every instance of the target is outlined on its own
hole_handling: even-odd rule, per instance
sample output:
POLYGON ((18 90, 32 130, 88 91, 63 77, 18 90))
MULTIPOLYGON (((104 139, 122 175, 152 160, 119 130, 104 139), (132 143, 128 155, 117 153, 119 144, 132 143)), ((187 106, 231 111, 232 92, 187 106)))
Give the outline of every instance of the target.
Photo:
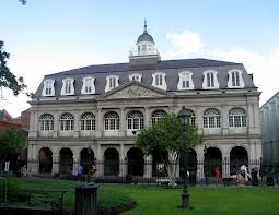
POLYGON ((123 86, 116 87, 101 96, 105 99, 115 98, 148 98, 148 97, 162 97, 168 95, 167 92, 158 89, 153 86, 148 86, 140 82, 129 82, 123 86))

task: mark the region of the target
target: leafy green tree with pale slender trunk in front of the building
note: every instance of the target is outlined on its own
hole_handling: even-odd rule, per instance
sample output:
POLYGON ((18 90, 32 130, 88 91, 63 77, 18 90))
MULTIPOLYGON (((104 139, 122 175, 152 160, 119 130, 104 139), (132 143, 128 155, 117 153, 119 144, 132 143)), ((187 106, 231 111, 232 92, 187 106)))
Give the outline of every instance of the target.
POLYGON ((136 139, 136 145, 146 154, 158 152, 167 170, 171 186, 175 186, 181 155, 200 143, 202 138, 197 133, 197 128, 189 123, 183 126, 175 114, 166 114, 158 123, 140 130, 136 139), (164 157, 165 151, 170 153, 168 158, 164 157))

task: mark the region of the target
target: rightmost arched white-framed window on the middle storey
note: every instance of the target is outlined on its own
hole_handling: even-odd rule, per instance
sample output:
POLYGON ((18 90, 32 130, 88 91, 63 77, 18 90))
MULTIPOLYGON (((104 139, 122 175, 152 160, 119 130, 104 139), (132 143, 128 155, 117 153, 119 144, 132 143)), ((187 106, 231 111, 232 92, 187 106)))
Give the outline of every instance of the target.
POLYGON ((246 112, 242 108, 232 108, 229 111, 229 127, 246 127, 246 112))

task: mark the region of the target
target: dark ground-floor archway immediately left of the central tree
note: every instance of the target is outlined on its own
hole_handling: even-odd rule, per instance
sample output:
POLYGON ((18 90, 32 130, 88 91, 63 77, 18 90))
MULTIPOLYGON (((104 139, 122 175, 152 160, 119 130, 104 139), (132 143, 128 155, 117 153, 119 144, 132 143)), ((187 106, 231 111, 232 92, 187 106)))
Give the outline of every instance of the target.
POLYGON ((143 176, 143 152, 138 147, 132 147, 127 153, 128 175, 143 176))

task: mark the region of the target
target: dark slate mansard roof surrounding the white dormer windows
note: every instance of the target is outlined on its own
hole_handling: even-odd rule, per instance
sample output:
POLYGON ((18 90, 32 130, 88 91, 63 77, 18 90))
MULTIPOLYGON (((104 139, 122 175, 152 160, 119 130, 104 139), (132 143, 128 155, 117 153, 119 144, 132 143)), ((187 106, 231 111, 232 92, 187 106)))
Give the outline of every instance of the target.
MULTIPOLYGON (((178 73, 181 71, 191 71, 194 89, 202 89, 204 71, 216 70, 218 72, 219 88, 228 88, 228 71, 232 69, 242 70, 245 88, 256 87, 251 75, 246 72, 242 63, 209 60, 209 59, 182 59, 182 60, 163 60, 158 61, 158 64, 139 64, 138 67, 130 67, 129 63, 113 63, 113 64, 94 64, 84 68, 73 69, 65 72, 46 75, 44 80, 51 79, 55 81, 55 94, 60 96, 62 80, 67 77, 74 79, 74 95, 81 95, 82 79, 85 76, 95 77, 95 94, 105 93, 106 76, 118 75, 119 85, 129 82, 129 74, 142 74, 142 82, 152 85, 152 73, 164 72, 166 75, 166 85, 168 92, 177 91, 178 73)), ((42 81, 35 96, 40 97, 43 91, 42 81)))

